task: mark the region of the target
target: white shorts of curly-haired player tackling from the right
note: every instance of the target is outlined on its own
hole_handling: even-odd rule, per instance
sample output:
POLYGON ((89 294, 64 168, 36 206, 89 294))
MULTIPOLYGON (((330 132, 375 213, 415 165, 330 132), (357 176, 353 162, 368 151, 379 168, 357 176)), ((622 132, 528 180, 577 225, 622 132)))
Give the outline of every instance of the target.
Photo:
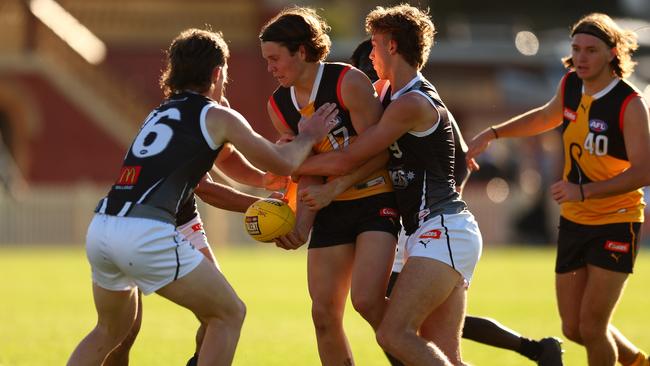
POLYGON ((481 257, 483 239, 471 212, 437 215, 406 236, 404 263, 410 257, 426 257, 446 263, 459 272, 467 284, 481 257))

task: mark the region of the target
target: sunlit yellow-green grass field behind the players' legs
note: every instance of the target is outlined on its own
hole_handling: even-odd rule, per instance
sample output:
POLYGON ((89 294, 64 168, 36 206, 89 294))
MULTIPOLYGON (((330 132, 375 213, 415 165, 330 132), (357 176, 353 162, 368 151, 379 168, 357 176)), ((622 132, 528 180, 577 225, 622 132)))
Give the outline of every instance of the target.
MULTIPOLYGON (((248 306, 235 365, 318 365, 306 287, 306 251, 274 247, 217 249, 248 306)), ((552 249, 487 248, 469 292, 469 313, 498 319, 530 337, 560 335, 554 305, 552 249)), ((0 365, 63 365, 94 325, 89 267, 81 246, 0 246, 0 365)), ((615 324, 650 350, 650 256, 641 252, 615 324)), ((387 365, 372 330, 349 307, 346 330, 357 365, 387 365)), ((143 329, 132 365, 185 365, 197 322, 156 295, 144 299, 143 329)), ((565 343, 565 364, 585 365, 565 343)), ((463 343, 474 365, 532 365, 512 352, 463 343)))

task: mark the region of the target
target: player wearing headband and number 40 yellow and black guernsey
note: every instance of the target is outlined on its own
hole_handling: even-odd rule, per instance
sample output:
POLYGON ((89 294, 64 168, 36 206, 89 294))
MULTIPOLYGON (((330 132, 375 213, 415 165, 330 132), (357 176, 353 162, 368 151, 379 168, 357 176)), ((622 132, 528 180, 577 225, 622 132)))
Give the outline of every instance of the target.
POLYGON ((551 186, 561 217, 555 266, 562 330, 589 365, 648 366, 647 355, 610 324, 634 267, 650 184, 648 104, 625 80, 637 36, 600 13, 571 31, 569 72, 544 106, 492 126, 469 144, 470 165, 496 138, 562 126, 564 172, 551 186))

